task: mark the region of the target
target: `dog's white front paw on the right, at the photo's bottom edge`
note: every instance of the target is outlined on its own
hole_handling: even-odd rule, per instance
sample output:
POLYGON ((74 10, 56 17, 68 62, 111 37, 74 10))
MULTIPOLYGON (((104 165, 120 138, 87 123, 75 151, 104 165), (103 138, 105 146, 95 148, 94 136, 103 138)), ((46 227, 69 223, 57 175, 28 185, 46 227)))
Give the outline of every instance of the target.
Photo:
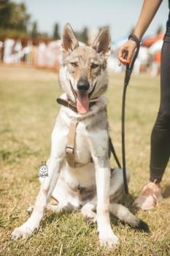
POLYGON ((99 233, 99 242, 101 246, 116 246, 119 244, 117 236, 113 232, 99 233))

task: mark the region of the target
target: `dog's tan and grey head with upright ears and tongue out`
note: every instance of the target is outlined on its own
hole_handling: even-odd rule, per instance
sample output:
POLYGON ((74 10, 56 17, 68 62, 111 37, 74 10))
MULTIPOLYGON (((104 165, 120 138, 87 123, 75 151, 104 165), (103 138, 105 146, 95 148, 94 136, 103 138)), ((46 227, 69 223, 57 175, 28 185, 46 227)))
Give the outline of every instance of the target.
POLYGON ((107 89, 109 30, 101 29, 92 45, 80 46, 72 27, 66 23, 63 29, 61 51, 63 57, 60 71, 61 88, 73 101, 76 95, 79 113, 87 113, 89 99, 100 96, 107 89))

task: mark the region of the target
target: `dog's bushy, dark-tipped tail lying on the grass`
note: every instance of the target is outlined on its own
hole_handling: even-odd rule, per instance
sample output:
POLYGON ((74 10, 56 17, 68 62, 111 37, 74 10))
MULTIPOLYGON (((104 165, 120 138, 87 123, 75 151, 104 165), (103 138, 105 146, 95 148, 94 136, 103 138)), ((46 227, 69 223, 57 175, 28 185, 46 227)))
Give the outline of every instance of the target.
POLYGON ((120 203, 110 204, 109 211, 122 222, 128 223, 131 227, 149 232, 149 226, 147 223, 135 217, 134 214, 131 214, 131 211, 129 211, 128 208, 122 206, 120 203))

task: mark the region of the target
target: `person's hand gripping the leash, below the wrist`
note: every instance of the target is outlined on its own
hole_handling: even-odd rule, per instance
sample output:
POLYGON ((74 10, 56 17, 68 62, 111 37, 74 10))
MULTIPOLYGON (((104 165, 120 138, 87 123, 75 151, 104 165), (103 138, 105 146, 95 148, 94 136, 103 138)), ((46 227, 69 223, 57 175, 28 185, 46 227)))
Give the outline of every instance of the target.
POLYGON ((134 56, 134 50, 136 49, 136 42, 129 39, 128 42, 125 42, 118 50, 118 64, 121 63, 129 64, 131 62, 132 56, 134 56))

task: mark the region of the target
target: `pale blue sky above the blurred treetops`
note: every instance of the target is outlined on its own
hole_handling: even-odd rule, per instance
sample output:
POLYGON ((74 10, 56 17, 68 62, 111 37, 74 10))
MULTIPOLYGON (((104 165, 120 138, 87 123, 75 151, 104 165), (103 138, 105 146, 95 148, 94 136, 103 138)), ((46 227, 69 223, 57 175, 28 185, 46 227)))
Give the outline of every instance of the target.
MULTIPOLYGON (((143 0, 13 0, 24 2, 32 20, 39 24, 40 31, 53 33, 55 22, 71 23, 75 30, 82 27, 98 28, 109 25, 112 40, 129 34, 136 23, 143 0)), ((168 0, 163 0, 150 28, 145 35, 154 34, 159 25, 166 29, 168 0)))

